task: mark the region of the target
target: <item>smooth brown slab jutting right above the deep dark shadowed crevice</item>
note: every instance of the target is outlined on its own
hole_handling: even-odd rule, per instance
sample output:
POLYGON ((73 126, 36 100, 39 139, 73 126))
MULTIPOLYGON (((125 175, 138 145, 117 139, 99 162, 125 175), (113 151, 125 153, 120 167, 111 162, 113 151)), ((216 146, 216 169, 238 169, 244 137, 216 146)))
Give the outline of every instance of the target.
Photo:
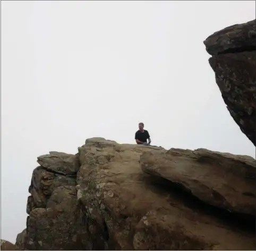
POLYGON ((207 149, 170 149, 141 156, 145 173, 180 184, 200 200, 255 217, 255 159, 207 149))

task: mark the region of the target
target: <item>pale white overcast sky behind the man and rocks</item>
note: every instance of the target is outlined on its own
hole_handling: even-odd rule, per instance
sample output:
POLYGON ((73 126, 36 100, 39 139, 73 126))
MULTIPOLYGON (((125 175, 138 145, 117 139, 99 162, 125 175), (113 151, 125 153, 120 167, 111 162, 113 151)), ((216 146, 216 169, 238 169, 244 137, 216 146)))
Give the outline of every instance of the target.
POLYGON ((255 157, 203 40, 255 18, 254 1, 4 1, 1 238, 25 228, 37 156, 90 137, 255 157))

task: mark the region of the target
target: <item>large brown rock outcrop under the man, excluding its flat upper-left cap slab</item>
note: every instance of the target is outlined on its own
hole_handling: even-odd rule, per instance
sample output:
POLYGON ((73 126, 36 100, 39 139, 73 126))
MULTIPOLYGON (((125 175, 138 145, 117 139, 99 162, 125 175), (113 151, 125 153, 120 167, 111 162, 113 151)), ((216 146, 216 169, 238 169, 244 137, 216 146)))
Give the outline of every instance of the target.
POLYGON ((255 249, 253 158, 104 138, 78 150, 73 176, 33 171, 20 249, 255 249))

